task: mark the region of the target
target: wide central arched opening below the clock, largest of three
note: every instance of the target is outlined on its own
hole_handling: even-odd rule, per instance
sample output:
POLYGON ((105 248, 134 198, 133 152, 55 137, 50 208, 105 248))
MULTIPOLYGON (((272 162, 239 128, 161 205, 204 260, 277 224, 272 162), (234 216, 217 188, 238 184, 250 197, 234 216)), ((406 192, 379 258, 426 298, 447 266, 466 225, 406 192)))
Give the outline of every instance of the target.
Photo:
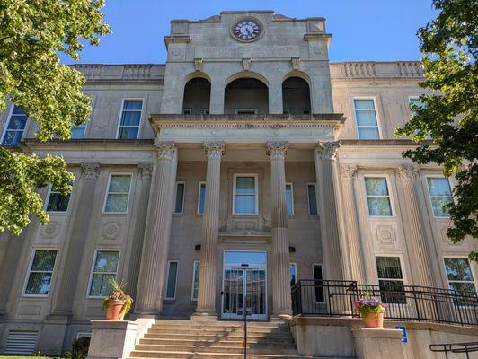
POLYGON ((230 78, 224 91, 226 114, 252 114, 269 112, 269 88, 261 76, 230 78))

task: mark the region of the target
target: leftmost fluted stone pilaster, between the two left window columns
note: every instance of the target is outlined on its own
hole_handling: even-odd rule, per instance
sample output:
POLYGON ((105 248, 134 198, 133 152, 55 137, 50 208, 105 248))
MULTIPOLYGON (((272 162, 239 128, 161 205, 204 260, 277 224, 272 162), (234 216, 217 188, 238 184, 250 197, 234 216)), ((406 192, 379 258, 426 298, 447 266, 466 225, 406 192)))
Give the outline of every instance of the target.
POLYGON ((53 316, 70 316, 72 314, 75 288, 80 273, 84 247, 88 239, 88 230, 92 223, 92 203, 95 202, 94 192, 96 180, 100 174, 99 163, 82 163, 83 187, 78 196, 78 205, 75 208, 75 223, 71 231, 71 238, 66 249, 66 260, 63 261, 63 270, 59 286, 56 287, 58 296, 52 303, 53 316))

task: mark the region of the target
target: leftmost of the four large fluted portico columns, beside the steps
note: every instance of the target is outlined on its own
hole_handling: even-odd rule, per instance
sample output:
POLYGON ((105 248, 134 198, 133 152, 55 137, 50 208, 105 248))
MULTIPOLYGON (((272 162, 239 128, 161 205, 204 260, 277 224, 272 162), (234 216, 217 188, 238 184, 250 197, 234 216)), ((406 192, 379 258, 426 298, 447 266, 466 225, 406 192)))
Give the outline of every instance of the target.
POLYGON ((141 256, 136 312, 158 315, 163 308, 164 280, 173 219, 174 182, 178 153, 173 142, 158 141, 155 186, 150 196, 146 236, 141 256))

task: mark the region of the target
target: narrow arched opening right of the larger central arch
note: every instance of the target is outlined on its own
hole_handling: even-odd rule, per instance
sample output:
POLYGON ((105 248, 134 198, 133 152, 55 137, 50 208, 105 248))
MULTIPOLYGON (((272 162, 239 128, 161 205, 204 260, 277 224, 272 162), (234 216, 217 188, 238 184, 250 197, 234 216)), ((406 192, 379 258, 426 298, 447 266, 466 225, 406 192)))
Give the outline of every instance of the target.
POLYGON ((291 115, 311 113, 310 87, 302 76, 293 75, 283 81, 282 107, 284 113, 291 115))

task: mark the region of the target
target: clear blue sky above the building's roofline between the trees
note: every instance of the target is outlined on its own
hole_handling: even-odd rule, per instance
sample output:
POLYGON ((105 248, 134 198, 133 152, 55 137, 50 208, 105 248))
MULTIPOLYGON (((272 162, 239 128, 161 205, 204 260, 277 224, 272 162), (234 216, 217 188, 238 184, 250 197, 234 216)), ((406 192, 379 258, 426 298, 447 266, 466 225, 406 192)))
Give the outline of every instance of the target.
POLYGON ((107 0, 112 34, 99 47, 85 48, 78 62, 164 63, 163 37, 171 20, 204 19, 223 10, 323 16, 332 33, 332 61, 420 59, 416 31, 437 14, 431 0, 107 0))

